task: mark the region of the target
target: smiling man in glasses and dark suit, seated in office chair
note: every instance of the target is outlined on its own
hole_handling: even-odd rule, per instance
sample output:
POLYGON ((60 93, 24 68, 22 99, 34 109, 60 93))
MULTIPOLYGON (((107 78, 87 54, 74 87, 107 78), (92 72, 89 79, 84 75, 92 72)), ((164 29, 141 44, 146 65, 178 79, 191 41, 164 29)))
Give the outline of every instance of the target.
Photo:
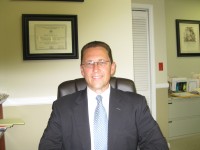
POLYGON ((87 88, 53 103, 39 150, 168 150, 145 97, 110 86, 115 68, 106 43, 93 41, 82 48, 80 69, 87 88), (99 127, 96 115, 101 112, 99 127))

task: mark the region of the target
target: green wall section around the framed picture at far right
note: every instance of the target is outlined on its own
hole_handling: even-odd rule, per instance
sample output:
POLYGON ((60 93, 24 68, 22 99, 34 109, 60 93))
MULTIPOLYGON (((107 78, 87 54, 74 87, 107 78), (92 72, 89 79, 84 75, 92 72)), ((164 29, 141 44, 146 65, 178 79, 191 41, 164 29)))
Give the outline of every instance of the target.
POLYGON ((192 77, 192 73, 199 74, 200 56, 177 57, 175 20, 182 19, 200 21, 200 1, 165 0, 165 10, 169 77, 192 77))

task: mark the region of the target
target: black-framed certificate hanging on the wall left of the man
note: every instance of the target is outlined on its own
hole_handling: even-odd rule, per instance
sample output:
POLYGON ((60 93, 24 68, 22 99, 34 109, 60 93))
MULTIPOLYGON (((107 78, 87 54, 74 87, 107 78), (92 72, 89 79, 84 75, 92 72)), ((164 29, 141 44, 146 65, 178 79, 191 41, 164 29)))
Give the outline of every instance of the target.
POLYGON ((23 59, 78 59, 77 15, 23 14, 23 59))

